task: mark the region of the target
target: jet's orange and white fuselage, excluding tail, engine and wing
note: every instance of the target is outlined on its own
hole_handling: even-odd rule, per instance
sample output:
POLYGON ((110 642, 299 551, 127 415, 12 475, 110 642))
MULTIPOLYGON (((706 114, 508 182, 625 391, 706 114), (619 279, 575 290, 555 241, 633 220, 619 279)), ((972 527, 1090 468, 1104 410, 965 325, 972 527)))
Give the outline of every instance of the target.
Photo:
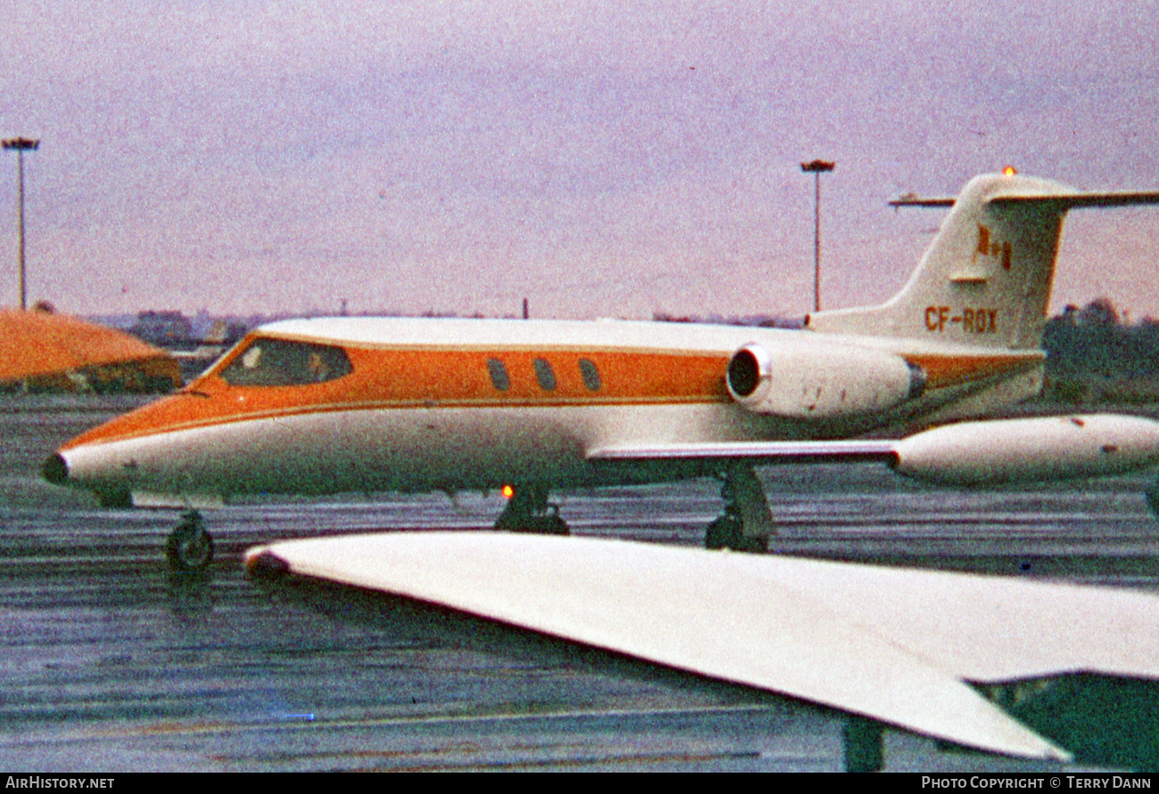
POLYGON ((1036 350, 787 329, 294 320, 256 329, 183 391, 73 439, 46 474, 105 495, 182 497, 607 485, 679 472, 600 467, 593 450, 840 438, 984 413, 1036 393, 1041 373, 1036 350), (726 383, 750 344, 792 362, 802 395, 840 387, 810 380, 809 362, 834 351, 901 356, 925 388, 879 411, 757 413, 726 383))

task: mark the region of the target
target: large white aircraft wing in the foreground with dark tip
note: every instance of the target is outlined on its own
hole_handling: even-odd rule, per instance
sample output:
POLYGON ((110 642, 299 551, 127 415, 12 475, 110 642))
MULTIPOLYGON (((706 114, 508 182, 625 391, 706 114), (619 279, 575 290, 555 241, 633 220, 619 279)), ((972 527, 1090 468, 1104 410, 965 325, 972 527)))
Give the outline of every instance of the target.
POLYGON ((1013 756, 1069 758, 968 682, 1159 678, 1159 598, 1128 591, 481 532, 296 540, 246 560, 1013 756))

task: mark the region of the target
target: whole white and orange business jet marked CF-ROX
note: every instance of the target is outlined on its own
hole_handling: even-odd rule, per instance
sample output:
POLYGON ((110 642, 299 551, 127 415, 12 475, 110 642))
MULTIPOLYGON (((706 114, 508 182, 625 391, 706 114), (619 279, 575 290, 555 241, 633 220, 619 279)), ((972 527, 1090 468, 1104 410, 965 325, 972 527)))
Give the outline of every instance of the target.
MULTIPOLYGON (((68 442, 54 483, 107 504, 233 494, 513 488, 498 529, 567 532, 557 488, 723 479, 709 547, 761 549, 755 465, 880 460, 931 481, 1120 473, 1159 461, 1159 423, 985 415, 1038 394, 1063 218, 1159 203, 1013 173, 971 180, 888 303, 803 330, 627 321, 333 318, 252 332, 187 388, 68 442), (905 428, 945 424, 888 439, 905 428), (873 434, 874 438, 866 438, 873 434)), ((167 542, 197 569, 194 510, 167 542)))

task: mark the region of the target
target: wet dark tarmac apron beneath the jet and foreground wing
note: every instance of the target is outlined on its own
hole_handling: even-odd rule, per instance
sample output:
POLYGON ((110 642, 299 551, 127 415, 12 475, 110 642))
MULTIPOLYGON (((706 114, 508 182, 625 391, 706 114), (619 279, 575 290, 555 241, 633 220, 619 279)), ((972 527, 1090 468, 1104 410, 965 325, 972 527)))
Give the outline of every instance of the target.
MULTIPOLYGON (((207 511, 207 574, 162 558, 174 511, 100 509, 38 479, 64 439, 138 398, 0 402, 0 768, 836 771, 844 719, 446 615, 249 581, 249 546, 487 527, 496 494, 248 500, 207 511)), ((781 552, 1159 591, 1154 473, 927 489, 884 468, 764 473, 781 552)), ((700 545, 712 481, 554 495, 573 532, 700 545)), ((902 733, 887 768, 1058 770, 902 733)), ((1072 767, 1081 768, 1081 767, 1072 767)))

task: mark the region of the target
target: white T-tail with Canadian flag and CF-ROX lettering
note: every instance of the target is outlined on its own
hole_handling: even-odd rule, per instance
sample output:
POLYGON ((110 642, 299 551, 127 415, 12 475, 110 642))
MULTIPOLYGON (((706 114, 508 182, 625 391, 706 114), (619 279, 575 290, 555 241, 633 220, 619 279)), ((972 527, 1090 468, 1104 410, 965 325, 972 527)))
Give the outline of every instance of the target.
POLYGON ((1036 349, 1067 210, 1156 203, 1159 191, 1081 191, 1013 173, 977 176, 956 199, 899 198, 891 205, 952 207, 910 281, 881 306, 816 312, 807 327, 1036 349))

